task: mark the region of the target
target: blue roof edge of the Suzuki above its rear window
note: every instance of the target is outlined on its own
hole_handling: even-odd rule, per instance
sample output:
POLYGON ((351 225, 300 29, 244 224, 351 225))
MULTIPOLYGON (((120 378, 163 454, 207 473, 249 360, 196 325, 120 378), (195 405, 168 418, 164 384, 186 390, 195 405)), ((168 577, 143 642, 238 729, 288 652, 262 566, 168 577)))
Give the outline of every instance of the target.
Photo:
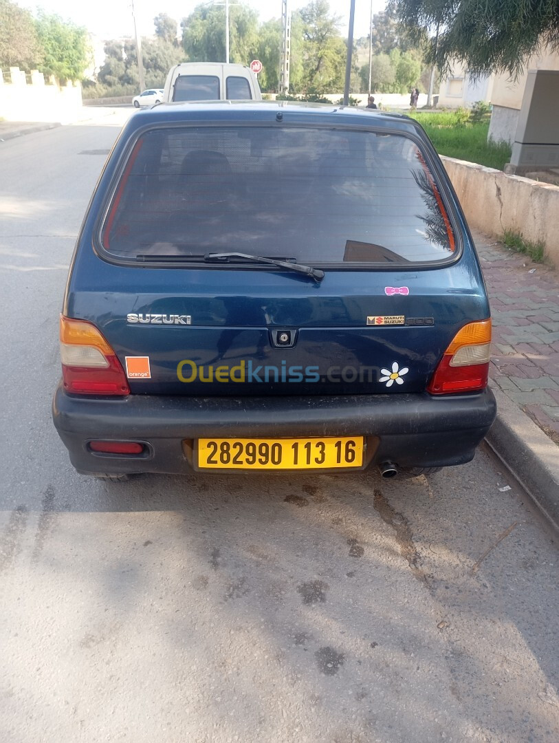
POLYGON ((266 123, 278 120, 292 123, 317 123, 353 126, 374 126, 379 129, 399 129, 416 134, 421 126, 408 116, 386 111, 339 106, 337 103, 298 103, 291 101, 193 101, 160 103, 147 111, 138 111, 130 118, 125 129, 135 129, 158 124, 189 123, 211 119, 212 123, 243 121, 266 123))

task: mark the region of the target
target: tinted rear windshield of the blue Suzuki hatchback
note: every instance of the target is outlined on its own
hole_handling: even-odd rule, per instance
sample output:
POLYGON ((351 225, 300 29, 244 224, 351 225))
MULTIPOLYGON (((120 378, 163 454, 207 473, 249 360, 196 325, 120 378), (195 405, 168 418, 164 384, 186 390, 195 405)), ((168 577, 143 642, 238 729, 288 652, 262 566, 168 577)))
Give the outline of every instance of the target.
POLYGON ((454 235, 416 144, 317 127, 143 134, 102 229, 115 256, 238 251, 302 263, 445 261, 454 235))

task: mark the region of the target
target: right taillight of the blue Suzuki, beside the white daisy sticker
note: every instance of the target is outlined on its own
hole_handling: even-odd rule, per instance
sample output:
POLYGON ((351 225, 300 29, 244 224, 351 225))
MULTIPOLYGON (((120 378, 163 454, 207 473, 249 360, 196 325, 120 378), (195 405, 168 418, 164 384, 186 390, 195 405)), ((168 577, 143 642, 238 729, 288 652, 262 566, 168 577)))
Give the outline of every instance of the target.
POLYGON ((454 336, 427 391, 431 395, 485 389, 491 356, 491 320, 468 322, 454 336))

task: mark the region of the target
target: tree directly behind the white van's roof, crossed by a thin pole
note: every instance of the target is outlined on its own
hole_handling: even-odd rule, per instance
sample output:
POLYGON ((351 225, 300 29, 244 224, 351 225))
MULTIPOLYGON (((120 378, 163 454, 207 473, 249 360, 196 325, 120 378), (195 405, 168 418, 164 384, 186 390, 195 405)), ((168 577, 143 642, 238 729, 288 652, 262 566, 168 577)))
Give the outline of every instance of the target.
MULTIPOLYGON (((225 62, 225 9, 197 5, 180 23, 183 49, 191 62, 225 62)), ((258 13, 247 5, 229 7, 229 62, 248 65, 258 49, 258 13)))

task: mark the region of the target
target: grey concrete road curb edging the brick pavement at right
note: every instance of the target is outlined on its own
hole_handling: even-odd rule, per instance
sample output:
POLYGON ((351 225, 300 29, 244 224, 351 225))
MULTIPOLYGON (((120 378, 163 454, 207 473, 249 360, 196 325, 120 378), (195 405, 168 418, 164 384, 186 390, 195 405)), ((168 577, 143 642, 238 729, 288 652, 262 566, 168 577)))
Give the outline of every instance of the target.
POLYGON ((506 395, 492 386, 497 419, 486 441, 555 528, 559 528, 559 450, 506 395))

